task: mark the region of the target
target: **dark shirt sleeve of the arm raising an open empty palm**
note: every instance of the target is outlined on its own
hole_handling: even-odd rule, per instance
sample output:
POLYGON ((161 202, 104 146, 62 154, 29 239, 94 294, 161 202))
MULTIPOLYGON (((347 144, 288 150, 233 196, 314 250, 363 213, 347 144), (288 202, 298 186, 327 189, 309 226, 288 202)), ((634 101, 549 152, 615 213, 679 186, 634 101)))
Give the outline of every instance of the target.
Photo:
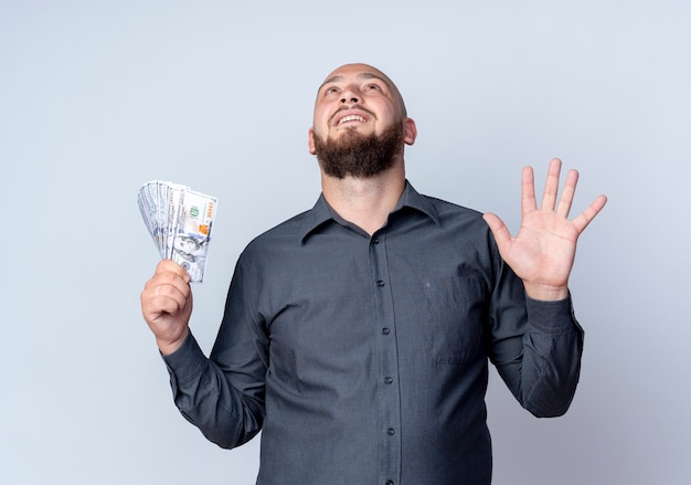
POLYGON ((564 414, 578 383, 584 337, 571 295, 532 299, 502 262, 489 320, 490 359, 515 399, 539 418, 564 414))

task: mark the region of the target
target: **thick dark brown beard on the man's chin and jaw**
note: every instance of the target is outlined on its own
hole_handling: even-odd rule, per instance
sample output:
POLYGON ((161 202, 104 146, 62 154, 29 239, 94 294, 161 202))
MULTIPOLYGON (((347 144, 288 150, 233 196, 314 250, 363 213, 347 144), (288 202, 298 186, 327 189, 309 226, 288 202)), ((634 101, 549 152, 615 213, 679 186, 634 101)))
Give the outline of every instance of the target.
POLYGON ((403 151, 403 126, 394 123, 381 135, 361 135, 349 128, 339 139, 323 139, 313 134, 317 160, 323 172, 343 179, 370 178, 389 170, 403 151))

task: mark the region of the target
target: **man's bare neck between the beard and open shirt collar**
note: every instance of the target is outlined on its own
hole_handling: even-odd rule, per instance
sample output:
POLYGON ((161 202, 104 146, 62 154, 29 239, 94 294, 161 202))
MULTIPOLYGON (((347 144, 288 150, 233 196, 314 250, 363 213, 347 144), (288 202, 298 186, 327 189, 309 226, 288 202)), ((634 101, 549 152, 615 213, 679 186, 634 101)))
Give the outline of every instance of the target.
POLYGON ((395 209, 405 188, 403 164, 366 179, 321 173, 323 197, 338 214, 372 235, 395 209))

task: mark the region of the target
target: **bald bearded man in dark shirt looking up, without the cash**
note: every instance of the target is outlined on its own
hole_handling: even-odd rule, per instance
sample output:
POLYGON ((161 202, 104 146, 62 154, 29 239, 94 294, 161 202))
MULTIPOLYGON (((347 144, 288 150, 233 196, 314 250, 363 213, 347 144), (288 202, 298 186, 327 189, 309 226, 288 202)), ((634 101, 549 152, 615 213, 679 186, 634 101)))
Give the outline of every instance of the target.
POLYGON ((416 135, 386 75, 337 68, 309 129, 322 194, 245 249, 211 358, 188 327, 185 272, 162 261, 146 284, 178 408, 224 447, 263 430, 258 484, 489 484, 488 359, 533 414, 571 403, 583 331, 568 275, 605 197, 570 221, 577 173, 557 202, 552 160, 538 208, 527 168, 512 238, 413 189, 416 135))

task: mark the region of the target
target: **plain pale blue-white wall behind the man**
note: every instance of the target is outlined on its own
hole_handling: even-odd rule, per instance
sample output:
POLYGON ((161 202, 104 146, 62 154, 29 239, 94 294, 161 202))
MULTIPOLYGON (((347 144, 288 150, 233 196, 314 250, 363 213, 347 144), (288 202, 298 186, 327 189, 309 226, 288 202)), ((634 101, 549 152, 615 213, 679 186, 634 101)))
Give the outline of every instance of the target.
POLYGON ((0 482, 254 483, 257 440, 216 449, 172 403, 136 193, 220 199, 208 351, 240 251, 319 194, 317 86, 368 62, 417 122, 418 191, 515 230, 521 167, 561 157, 575 210, 609 197, 572 277, 572 409, 534 419, 492 373, 495 483, 691 483, 690 48, 687 0, 0 1, 0 482))

